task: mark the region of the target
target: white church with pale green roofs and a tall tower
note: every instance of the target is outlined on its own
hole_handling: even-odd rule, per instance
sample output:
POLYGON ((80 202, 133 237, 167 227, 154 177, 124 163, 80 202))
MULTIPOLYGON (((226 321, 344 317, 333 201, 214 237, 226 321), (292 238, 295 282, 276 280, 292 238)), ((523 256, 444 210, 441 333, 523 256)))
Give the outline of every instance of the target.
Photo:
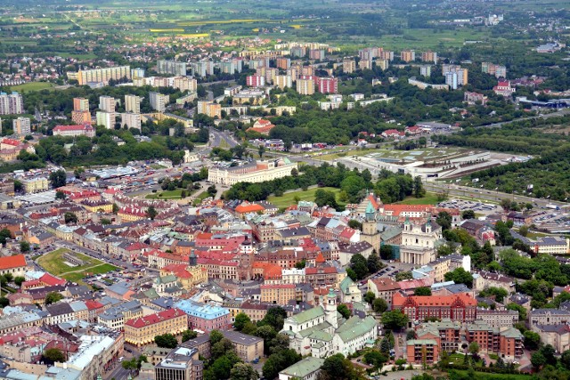
POLYGON ((289 348, 301 355, 327 358, 373 345, 378 326, 370 316, 344 319, 337 311, 337 295, 330 289, 321 305, 285 319, 281 334, 289 336, 289 348))

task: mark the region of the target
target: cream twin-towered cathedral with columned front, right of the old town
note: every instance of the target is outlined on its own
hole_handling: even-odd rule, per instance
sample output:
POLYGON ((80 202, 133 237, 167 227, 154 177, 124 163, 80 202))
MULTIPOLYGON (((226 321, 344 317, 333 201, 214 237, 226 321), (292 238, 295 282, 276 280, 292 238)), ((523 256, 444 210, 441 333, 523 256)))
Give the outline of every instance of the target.
POLYGON ((436 241, 443 239, 442 228, 429 219, 422 224, 413 224, 406 217, 400 245, 402 263, 426 265, 436 260, 436 241))

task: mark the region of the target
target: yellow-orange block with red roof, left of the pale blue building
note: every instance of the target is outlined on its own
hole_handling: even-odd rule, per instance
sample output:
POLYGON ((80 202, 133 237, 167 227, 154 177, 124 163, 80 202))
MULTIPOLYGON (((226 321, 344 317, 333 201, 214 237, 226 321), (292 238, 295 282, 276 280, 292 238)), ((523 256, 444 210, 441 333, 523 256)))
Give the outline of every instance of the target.
POLYGON ((188 316, 180 309, 168 309, 125 323, 125 342, 137 347, 154 342, 155 336, 178 335, 188 329, 188 316))

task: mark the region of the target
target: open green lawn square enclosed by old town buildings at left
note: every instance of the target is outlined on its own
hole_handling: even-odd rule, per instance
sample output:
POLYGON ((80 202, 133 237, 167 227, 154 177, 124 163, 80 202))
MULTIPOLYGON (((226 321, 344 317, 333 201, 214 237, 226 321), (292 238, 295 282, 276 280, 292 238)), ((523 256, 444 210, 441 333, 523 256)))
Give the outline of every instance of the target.
POLYGON ((103 263, 101 260, 78 254, 77 252, 74 252, 73 255, 78 260, 81 260, 83 264, 79 266, 68 265, 63 257, 66 253, 71 253, 71 251, 66 248, 56 249, 38 258, 37 263, 54 276, 77 283, 82 283, 81 279, 85 278, 85 276, 107 273, 117 269, 114 265, 103 263))

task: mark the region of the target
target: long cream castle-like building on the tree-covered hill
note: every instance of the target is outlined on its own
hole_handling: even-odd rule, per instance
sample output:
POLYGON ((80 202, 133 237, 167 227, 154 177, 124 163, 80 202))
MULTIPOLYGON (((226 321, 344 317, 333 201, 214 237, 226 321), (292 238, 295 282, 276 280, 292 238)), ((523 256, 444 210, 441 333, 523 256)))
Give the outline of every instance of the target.
POLYGON ((293 169, 297 169, 297 163, 291 163, 289 158, 259 160, 244 166, 210 167, 208 181, 226 186, 238 182, 265 182, 291 175, 293 169))

